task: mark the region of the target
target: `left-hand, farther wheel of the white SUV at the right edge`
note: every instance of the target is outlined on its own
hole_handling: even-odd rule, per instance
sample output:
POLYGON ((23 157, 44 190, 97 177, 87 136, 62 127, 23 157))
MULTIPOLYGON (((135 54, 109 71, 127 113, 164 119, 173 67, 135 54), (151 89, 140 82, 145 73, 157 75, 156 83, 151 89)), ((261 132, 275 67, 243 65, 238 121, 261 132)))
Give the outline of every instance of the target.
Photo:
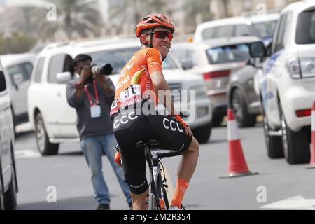
POLYGON ((265 134, 265 143, 267 146, 267 154, 269 158, 283 158, 283 147, 281 136, 269 135, 269 125, 267 123, 267 117, 264 113, 263 116, 263 125, 264 125, 264 134, 265 134))

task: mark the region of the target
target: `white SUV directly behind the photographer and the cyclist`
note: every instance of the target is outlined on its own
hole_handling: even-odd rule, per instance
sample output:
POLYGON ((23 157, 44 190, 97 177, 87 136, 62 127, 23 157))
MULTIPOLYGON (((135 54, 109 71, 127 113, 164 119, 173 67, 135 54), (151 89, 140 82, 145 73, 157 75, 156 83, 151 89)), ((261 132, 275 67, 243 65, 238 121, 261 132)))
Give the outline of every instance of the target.
MULTIPOLYGON (((140 43, 134 39, 78 41, 62 46, 48 45, 38 54, 28 91, 28 112, 42 155, 56 154, 59 143, 78 141, 76 112, 66 101, 65 81, 62 83, 59 80, 58 83, 57 73, 73 73, 72 58, 85 53, 91 55, 96 64, 110 63, 113 66, 113 75, 110 78, 116 84, 120 70, 139 49, 140 43)), ((163 62, 163 67, 163 73, 172 90, 196 90, 196 99, 190 99, 196 113, 190 114, 184 120, 188 121, 200 142, 208 141, 212 109, 204 81, 183 71, 171 54, 163 62), (190 119, 190 116, 195 116, 195 119, 190 119)), ((180 100, 175 99, 175 106, 180 100)))

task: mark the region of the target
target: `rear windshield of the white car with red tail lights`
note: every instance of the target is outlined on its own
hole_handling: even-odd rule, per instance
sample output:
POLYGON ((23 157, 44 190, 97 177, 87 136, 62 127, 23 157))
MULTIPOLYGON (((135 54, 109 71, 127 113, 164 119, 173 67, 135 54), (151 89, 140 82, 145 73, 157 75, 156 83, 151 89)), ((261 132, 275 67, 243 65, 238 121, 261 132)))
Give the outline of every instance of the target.
POLYGON ((249 48, 246 44, 210 48, 207 57, 209 64, 243 62, 249 57, 249 48))

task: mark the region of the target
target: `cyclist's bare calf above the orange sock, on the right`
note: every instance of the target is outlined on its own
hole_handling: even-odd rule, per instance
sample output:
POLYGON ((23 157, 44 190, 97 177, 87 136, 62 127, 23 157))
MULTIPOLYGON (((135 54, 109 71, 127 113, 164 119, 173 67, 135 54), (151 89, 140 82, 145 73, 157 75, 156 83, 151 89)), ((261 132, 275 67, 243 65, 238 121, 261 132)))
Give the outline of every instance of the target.
POLYGON ((188 150, 183 153, 181 162, 179 163, 179 172, 177 174, 178 179, 185 179, 188 182, 190 181, 197 166, 198 156, 199 144, 195 137, 193 137, 188 150))

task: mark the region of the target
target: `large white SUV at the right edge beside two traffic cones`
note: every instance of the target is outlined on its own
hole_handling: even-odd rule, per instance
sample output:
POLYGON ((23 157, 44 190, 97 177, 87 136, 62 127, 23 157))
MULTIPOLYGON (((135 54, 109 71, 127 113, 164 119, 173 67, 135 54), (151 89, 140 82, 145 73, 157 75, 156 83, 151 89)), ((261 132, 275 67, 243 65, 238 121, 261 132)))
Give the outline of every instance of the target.
POLYGON ((256 90, 264 115, 270 158, 309 162, 311 105, 315 100, 315 2, 291 3, 281 11, 271 56, 258 73, 256 90))

